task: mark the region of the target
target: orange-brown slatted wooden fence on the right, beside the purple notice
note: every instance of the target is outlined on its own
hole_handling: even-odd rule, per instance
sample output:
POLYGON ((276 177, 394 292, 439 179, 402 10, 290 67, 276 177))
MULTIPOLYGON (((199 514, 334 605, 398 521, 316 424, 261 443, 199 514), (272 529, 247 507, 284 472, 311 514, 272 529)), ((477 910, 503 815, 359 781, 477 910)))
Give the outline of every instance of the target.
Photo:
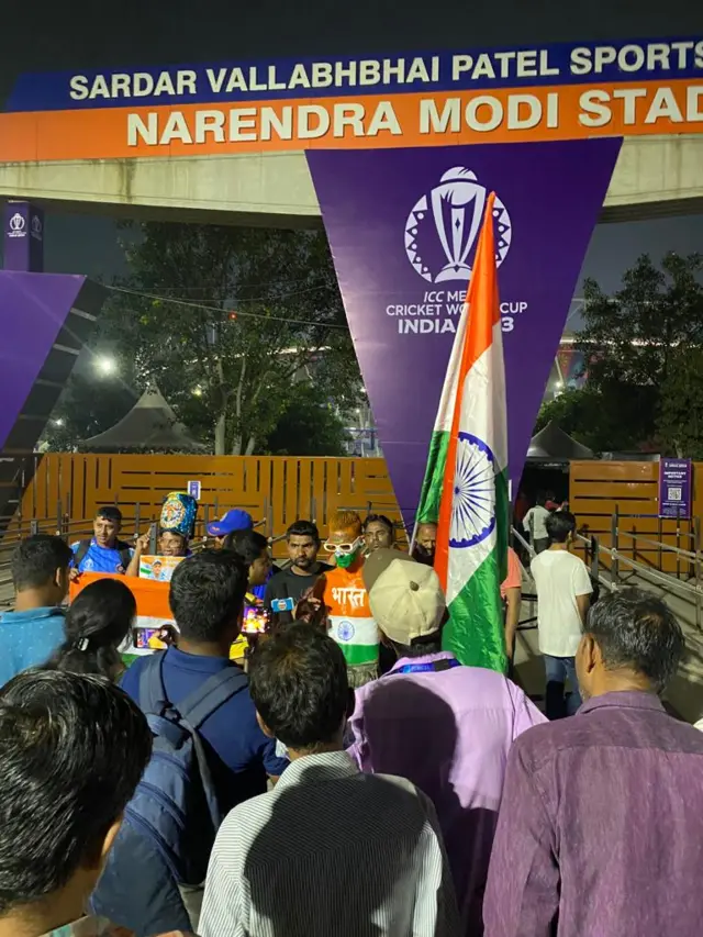
MULTIPOLYGON (((693 517, 701 515, 703 504, 696 484, 703 478, 703 464, 693 466, 693 517)), ((576 514, 579 529, 594 534, 601 546, 610 549, 613 543, 613 515, 617 513, 620 535, 617 549, 626 557, 673 575, 693 575, 692 562, 674 553, 659 549, 645 540, 658 540, 684 550, 694 549, 693 521, 662 520, 659 513, 659 464, 639 461, 574 461, 570 466, 570 510, 576 514), (637 535, 633 539, 628 534, 637 535)), ((601 559, 610 565, 604 551, 601 559)), ((627 564, 621 572, 627 575, 627 564)))

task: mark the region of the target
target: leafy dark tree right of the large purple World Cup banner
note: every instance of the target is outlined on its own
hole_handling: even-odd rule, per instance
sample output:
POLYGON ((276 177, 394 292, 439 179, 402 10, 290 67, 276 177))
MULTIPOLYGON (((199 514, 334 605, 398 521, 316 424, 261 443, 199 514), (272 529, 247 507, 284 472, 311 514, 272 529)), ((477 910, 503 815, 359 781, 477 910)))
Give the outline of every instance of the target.
POLYGON ((702 271, 699 254, 667 254, 660 269, 644 255, 612 297, 587 280, 578 347, 588 381, 543 406, 538 426, 553 419, 595 451, 667 449, 683 439, 683 412, 672 420, 690 372, 682 360, 703 347, 702 271))

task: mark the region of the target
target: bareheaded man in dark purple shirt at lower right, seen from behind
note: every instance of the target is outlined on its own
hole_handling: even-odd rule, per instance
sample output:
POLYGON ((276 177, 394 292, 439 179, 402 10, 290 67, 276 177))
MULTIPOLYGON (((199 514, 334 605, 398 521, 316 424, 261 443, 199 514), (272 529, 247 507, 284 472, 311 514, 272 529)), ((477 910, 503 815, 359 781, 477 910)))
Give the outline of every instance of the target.
POLYGON ((703 922, 703 734, 658 694, 684 652, 635 589, 591 609, 577 715, 513 746, 483 907, 487 937, 689 937, 703 922))

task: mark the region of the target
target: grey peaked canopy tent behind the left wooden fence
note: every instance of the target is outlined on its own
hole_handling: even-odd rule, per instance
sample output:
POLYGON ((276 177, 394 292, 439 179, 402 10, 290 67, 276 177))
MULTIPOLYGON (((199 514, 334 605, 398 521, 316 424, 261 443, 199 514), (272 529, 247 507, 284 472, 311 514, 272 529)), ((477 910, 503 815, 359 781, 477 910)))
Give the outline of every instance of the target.
POLYGON ((161 397, 149 388, 132 410, 104 433, 83 439, 83 453, 205 453, 161 397))

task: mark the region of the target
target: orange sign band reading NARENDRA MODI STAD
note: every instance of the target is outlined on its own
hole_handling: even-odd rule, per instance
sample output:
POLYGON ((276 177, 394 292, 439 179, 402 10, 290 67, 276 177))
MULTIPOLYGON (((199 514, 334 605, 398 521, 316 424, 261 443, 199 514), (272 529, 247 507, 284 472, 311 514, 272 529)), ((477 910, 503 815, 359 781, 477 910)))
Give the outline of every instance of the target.
POLYGON ((703 132, 703 80, 0 114, 0 161, 703 132))

